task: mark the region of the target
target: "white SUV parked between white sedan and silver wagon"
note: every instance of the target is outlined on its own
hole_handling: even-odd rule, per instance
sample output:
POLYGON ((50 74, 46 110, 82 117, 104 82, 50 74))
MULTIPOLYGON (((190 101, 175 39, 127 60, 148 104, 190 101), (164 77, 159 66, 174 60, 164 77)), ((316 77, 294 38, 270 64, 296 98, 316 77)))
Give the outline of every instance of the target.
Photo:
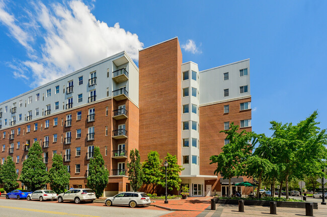
POLYGON ((93 202, 96 199, 96 194, 93 190, 88 188, 73 188, 67 190, 64 193, 58 195, 58 202, 63 202, 64 200, 75 201, 75 203, 80 203, 80 201, 93 202))

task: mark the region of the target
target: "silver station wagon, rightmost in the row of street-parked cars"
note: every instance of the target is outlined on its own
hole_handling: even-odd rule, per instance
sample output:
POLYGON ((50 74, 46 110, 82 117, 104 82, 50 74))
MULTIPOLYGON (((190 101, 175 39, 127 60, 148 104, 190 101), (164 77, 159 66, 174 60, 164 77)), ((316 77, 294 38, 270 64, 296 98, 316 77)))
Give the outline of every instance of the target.
POLYGON ((150 204, 150 197, 143 192, 123 192, 113 197, 108 197, 105 201, 107 206, 111 205, 129 205, 134 208, 136 206, 144 206, 150 204))

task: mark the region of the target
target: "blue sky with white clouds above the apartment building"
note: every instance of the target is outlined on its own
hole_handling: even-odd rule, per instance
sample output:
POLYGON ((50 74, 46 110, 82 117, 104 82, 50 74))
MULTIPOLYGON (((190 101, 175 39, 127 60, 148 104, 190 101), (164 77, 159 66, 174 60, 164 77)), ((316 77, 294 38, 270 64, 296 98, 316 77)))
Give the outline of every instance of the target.
POLYGON ((299 0, 0 0, 0 101, 121 50, 137 62, 138 49, 177 36, 189 45, 183 62, 200 70, 250 58, 255 132, 270 136, 270 121, 297 123, 314 110, 325 129, 326 8, 299 0))

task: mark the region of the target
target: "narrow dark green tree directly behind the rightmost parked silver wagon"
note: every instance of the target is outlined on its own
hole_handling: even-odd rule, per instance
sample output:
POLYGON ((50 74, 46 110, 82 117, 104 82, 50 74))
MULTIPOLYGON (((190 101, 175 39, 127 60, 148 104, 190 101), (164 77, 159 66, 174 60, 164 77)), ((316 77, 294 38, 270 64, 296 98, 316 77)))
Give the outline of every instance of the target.
POLYGON ((127 162, 128 180, 134 191, 138 191, 143 184, 143 170, 141 157, 137 149, 132 149, 129 154, 131 162, 127 162))

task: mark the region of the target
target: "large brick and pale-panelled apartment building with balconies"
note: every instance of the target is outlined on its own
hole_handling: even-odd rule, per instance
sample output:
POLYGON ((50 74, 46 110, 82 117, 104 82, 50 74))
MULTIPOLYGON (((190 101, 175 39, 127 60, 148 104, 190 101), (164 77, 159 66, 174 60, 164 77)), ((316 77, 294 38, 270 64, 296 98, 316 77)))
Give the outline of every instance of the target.
POLYGON ((99 146, 110 171, 109 196, 130 190, 131 149, 139 149, 142 161, 151 150, 162 159, 169 152, 185 168, 180 177, 191 196, 225 194, 226 180, 213 174, 209 158, 228 142, 219 131, 231 122, 252 129, 250 60, 199 71, 183 63, 173 38, 140 50, 138 65, 121 52, 0 103, 2 163, 12 156, 20 174, 39 141, 47 168, 61 154, 71 175, 67 188, 85 187, 99 146))

